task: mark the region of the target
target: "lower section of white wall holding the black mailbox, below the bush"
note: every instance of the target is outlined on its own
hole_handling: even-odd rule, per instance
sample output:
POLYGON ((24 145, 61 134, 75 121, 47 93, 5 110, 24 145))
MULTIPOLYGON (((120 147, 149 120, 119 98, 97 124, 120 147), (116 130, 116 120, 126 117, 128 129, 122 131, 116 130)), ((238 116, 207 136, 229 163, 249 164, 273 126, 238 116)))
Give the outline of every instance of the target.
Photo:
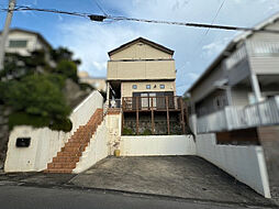
POLYGON ((4 172, 40 172, 46 168, 70 133, 52 131, 48 128, 16 127, 10 134, 4 172), (29 147, 16 147, 18 138, 31 138, 29 147))

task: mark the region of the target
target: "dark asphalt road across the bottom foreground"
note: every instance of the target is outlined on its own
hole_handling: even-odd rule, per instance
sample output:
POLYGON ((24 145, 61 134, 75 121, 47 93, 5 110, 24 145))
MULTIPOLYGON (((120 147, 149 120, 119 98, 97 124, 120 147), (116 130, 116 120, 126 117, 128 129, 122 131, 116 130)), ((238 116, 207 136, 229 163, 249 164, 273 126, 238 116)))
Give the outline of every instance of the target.
MULTIPOLYGON (((0 208, 3 209, 148 209, 148 208, 247 208, 242 205, 177 200, 159 197, 136 196, 92 190, 60 188, 35 188, 25 186, 0 186, 0 208)), ((248 208, 268 208, 254 207, 248 208)))

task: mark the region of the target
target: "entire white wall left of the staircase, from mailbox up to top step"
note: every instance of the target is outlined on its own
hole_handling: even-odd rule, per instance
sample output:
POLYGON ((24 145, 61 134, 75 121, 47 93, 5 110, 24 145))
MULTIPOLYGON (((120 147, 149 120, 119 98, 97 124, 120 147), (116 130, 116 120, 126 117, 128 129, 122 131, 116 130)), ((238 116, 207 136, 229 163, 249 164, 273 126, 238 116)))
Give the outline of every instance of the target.
POLYGON ((33 129, 32 127, 15 127, 9 138, 4 172, 40 172, 46 169, 57 152, 68 141, 70 135, 83 125, 102 108, 103 98, 99 91, 93 91, 71 113, 72 130, 68 133, 52 131, 48 128, 33 129), (31 138, 29 147, 16 147, 18 138, 31 138))

